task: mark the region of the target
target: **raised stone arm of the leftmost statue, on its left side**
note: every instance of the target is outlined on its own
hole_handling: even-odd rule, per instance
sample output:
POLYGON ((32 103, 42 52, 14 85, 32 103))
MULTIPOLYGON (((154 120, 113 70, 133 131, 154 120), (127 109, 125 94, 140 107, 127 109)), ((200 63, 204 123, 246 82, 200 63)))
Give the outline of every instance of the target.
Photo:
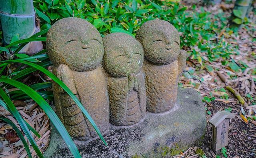
MULTIPOLYGON (((74 78, 72 75, 72 70, 70 70, 70 68, 65 65, 65 64, 61 64, 58 67, 57 70, 57 77, 62 80, 62 82, 64 84, 66 84, 66 86, 74 93, 77 94, 77 90, 76 90, 76 86, 74 83, 74 78)), ((62 89, 62 92, 64 92, 64 90, 62 89)))

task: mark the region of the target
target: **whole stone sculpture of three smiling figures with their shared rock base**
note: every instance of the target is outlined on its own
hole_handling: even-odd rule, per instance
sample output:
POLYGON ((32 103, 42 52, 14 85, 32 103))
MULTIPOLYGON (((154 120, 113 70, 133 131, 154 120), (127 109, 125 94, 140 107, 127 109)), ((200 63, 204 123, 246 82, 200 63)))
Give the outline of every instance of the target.
MULTIPOLYGON (((92 24, 78 18, 59 20, 47 34, 54 74, 80 99, 108 142, 108 148, 102 148, 100 138, 89 139, 96 136, 94 129, 53 83, 57 114, 68 132, 89 139, 76 141, 85 158, 161 157, 165 148, 186 150, 202 141, 206 112, 200 95, 192 88, 177 93, 186 62, 177 30, 169 22, 152 20, 142 25, 136 38, 113 33, 102 40, 92 24), (177 108, 170 110, 175 102, 177 108)), ((70 157, 56 132, 44 157, 70 157)))

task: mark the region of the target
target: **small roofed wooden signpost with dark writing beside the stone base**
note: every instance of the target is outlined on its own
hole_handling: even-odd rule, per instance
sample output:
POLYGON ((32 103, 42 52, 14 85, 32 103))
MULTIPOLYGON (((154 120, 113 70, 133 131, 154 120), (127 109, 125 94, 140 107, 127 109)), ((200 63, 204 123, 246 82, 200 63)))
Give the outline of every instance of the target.
POLYGON ((215 154, 218 154, 221 148, 228 145, 228 129, 231 118, 235 118, 235 115, 227 111, 218 111, 209 120, 213 126, 211 148, 215 154))

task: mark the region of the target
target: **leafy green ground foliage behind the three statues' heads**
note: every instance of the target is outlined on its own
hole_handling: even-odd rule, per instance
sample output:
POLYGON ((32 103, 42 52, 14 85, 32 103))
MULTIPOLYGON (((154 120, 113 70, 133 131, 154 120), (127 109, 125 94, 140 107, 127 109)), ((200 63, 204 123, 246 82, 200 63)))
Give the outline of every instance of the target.
POLYGON ((190 48, 188 53, 202 66, 205 60, 226 59, 233 51, 231 45, 223 39, 213 40, 217 39, 216 30, 224 28, 228 20, 220 13, 212 22, 211 13, 205 12, 203 8, 197 12, 195 5, 192 6, 192 11, 187 11, 186 7, 174 1, 36 0, 34 6, 43 26, 48 24, 49 27, 61 18, 78 17, 92 23, 102 36, 112 32, 124 32, 134 36, 148 20, 167 20, 182 32, 181 47, 190 48), (206 54, 208 59, 201 58, 201 54, 206 54))

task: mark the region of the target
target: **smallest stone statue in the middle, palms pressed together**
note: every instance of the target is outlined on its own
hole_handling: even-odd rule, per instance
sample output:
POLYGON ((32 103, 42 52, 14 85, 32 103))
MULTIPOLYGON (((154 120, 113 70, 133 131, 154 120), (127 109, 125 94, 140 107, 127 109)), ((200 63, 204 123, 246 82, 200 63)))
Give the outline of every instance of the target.
POLYGON ((146 112, 142 45, 124 33, 106 35, 103 44, 110 122, 116 126, 136 124, 146 112))

